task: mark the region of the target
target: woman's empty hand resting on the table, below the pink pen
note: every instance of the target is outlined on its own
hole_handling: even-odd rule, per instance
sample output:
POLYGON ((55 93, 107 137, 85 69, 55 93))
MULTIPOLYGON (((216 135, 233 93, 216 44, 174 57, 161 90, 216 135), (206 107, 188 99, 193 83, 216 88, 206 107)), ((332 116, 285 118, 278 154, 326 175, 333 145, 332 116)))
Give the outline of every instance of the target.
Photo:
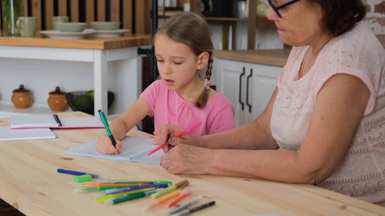
POLYGON ((209 174, 213 151, 179 144, 161 156, 161 165, 172 174, 209 174))

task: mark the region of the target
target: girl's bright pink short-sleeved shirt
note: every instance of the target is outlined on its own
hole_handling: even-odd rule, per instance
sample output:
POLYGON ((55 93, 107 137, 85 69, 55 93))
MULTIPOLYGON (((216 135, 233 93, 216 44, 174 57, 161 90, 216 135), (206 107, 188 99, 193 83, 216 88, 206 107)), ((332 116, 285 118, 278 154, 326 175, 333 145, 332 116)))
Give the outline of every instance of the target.
POLYGON ((192 130, 195 136, 219 133, 236 127, 233 104, 221 92, 210 98, 203 109, 185 101, 176 91, 170 91, 162 80, 157 80, 140 95, 151 108, 155 130, 163 125, 189 128, 199 121, 201 125, 192 130))

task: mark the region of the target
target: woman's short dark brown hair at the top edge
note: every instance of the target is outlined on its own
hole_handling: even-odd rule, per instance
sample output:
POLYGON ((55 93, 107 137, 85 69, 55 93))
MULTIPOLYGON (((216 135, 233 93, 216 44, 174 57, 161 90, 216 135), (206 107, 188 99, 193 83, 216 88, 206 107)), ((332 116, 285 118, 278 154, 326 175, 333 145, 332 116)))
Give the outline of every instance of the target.
POLYGON ((366 15, 362 0, 307 0, 321 5, 324 12, 321 26, 339 36, 355 27, 366 15))

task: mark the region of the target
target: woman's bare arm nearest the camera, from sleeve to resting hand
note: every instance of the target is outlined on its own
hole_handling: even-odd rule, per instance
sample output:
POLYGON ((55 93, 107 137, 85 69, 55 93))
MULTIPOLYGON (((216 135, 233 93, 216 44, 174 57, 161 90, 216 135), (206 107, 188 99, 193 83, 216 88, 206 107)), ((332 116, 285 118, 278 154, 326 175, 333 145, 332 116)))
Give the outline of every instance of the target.
MULTIPOLYGON (((298 151, 211 150, 177 145, 162 156, 162 166, 170 173, 320 183, 340 164, 365 111, 369 96, 368 87, 356 76, 334 75, 326 81, 317 95, 305 140, 298 151)), ((249 142, 252 136, 249 133, 252 131, 247 130, 244 138, 239 138, 234 131, 234 137, 240 139, 237 145, 243 140, 249 142)), ((212 137, 205 138, 205 141, 217 142, 212 137)), ((216 138, 234 141, 229 136, 225 140, 219 136, 216 138)))

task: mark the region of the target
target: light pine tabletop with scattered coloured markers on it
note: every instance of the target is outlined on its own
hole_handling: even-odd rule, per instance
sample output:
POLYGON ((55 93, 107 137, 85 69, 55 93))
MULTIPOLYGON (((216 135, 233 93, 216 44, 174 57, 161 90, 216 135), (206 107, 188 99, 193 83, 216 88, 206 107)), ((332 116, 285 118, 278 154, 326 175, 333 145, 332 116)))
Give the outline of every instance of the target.
MULTIPOLYGON (((59 113, 59 117, 93 117, 81 112, 59 113)), ((0 119, 9 126, 9 118, 0 119)), ((385 208, 309 184, 287 184, 250 178, 210 175, 174 175, 157 165, 64 155, 63 151, 100 137, 104 129, 53 129, 56 139, 0 141, 0 198, 27 216, 165 215, 171 209, 161 204, 149 211, 141 207, 150 197, 113 206, 95 203, 98 193, 74 193, 80 183, 58 168, 107 175, 109 179, 188 179, 196 191, 181 201, 204 195, 202 202, 216 204, 193 215, 247 215, 276 213, 280 216, 375 216, 385 208)), ((137 130, 128 135, 149 136, 137 130)), ((95 181, 95 180, 94 180, 95 181)))

